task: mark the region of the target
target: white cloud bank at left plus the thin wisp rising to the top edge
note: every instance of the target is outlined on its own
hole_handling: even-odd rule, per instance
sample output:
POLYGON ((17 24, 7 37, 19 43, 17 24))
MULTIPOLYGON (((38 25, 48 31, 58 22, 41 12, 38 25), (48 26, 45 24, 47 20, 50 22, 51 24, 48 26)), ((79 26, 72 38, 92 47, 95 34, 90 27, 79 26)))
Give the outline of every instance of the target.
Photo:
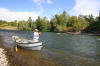
POLYGON ((0 20, 6 21, 14 21, 14 20, 28 20, 29 17, 32 19, 37 19, 39 15, 44 12, 43 3, 52 4, 51 0, 32 0, 34 3, 38 5, 40 11, 32 11, 32 12, 13 12, 9 11, 7 8, 0 8, 0 20))

